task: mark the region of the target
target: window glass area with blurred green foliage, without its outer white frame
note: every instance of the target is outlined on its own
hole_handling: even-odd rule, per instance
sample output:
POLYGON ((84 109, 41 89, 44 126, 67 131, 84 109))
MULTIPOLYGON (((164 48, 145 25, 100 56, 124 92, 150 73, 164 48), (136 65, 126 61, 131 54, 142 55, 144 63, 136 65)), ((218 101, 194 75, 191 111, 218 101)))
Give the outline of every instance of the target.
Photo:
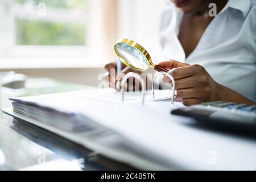
POLYGON ((15 44, 85 46, 86 0, 14 0, 15 44))

